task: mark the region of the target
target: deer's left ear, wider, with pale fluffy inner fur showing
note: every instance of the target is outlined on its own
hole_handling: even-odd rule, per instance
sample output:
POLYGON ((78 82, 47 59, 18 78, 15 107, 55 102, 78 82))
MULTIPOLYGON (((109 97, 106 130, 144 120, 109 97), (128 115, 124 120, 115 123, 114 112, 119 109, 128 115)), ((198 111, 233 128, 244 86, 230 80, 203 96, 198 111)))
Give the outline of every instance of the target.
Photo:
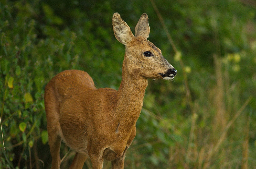
POLYGON ((132 41, 134 35, 130 27, 125 23, 125 21, 121 18, 119 13, 114 13, 112 18, 113 30, 115 38, 121 42, 122 44, 126 45, 128 42, 132 41))

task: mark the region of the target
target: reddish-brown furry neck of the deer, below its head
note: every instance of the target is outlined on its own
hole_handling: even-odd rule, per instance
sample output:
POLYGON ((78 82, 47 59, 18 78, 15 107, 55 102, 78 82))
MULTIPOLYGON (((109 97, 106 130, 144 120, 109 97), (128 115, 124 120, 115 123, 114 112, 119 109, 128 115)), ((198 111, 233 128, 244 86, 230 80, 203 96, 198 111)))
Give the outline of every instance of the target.
POLYGON ((124 56, 122 81, 117 91, 116 118, 130 127, 134 126, 142 109, 147 79, 136 75, 129 67, 127 55, 124 56))

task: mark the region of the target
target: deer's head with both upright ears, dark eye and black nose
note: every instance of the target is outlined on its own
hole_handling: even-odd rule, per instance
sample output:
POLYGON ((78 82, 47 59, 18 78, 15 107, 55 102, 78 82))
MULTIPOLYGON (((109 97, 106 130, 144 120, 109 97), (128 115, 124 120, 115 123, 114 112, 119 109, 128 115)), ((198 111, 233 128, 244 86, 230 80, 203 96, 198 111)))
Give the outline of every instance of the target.
POLYGON ((114 13, 112 18, 116 39, 125 45, 123 63, 128 74, 136 78, 171 80, 177 70, 163 57, 162 52, 152 42, 148 41, 150 27, 147 14, 142 14, 133 35, 130 27, 114 13))

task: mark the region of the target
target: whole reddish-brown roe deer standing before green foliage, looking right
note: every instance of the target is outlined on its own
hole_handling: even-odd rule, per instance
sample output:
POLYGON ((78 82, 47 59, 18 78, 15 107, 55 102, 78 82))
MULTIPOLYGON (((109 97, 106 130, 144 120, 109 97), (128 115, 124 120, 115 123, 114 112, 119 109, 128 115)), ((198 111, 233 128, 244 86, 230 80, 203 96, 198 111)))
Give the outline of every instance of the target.
POLYGON ((125 45, 118 91, 96 89, 81 70, 63 71, 45 87, 51 168, 60 167, 61 140, 76 151, 70 168, 82 168, 88 156, 93 169, 101 169, 104 159, 112 161, 112 169, 123 168, 125 151, 136 134, 147 79, 170 80, 177 73, 161 50, 147 41, 147 14, 141 15, 134 35, 118 13, 112 23, 116 39, 125 45))

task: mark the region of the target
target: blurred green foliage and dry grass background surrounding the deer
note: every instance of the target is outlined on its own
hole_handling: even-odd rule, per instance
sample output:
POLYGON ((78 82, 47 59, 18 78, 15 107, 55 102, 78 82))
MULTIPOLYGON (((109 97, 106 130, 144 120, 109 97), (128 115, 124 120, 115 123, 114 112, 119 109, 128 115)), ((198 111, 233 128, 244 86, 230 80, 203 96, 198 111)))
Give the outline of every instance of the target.
MULTIPOLYGON (((97 88, 119 88, 115 12, 133 32, 147 13, 148 40, 178 71, 148 80, 125 168, 256 168, 253 0, 1 0, 0 168, 50 168, 43 98, 56 74, 84 70, 97 88)), ((74 152, 60 154, 68 168, 74 152)))

